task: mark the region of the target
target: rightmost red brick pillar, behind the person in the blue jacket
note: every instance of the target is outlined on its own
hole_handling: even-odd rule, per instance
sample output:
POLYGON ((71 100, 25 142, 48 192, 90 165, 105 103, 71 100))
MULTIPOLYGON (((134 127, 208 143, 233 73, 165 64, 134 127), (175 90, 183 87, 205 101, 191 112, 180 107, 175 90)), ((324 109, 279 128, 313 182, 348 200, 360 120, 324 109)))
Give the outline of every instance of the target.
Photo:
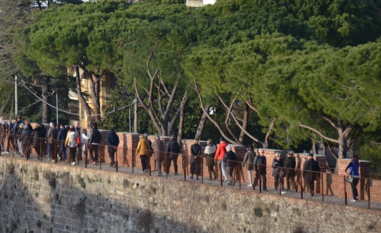
MULTIPOLYGON (((352 159, 338 159, 337 160, 337 174, 339 176, 346 176, 347 174, 345 173, 345 168, 348 166, 348 164, 352 161, 352 159)), ((371 162, 366 161, 366 160, 360 160, 360 169, 359 169, 359 174, 360 174, 360 182, 357 184, 357 190, 359 193, 359 200, 365 200, 368 196, 368 190, 366 187, 366 183, 368 182, 367 179, 370 177, 371 173, 371 162)), ((348 169, 349 171, 349 169, 348 169)), ((342 178, 344 179, 344 178, 342 178)), ((344 181, 343 181, 344 182, 344 181)), ((342 184, 344 186, 344 184, 342 184)), ((350 183, 346 183, 346 192, 348 195, 348 199, 353 198, 352 197, 352 189, 350 186, 350 183)))

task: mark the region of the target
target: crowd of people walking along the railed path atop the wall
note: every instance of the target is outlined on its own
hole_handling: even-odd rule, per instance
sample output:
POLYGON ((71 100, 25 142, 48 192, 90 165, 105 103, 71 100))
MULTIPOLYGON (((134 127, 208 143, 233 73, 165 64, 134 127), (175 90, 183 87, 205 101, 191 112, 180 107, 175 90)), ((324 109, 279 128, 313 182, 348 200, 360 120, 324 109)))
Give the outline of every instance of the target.
MULTIPOLYGON (((139 138, 140 140, 135 155, 140 157, 143 174, 148 172, 149 157, 153 156, 158 176, 163 175, 162 170, 168 174, 171 164, 173 164, 175 175, 178 175, 177 160, 181 150, 175 135, 171 135, 166 147, 159 135, 154 137, 154 142, 148 140, 147 134, 141 134, 139 138), (162 169, 163 163, 165 163, 165 167, 162 169)), ((115 152, 119 145, 119 137, 114 128, 110 128, 110 132, 106 136, 106 141, 110 167, 114 167, 116 164, 115 152)), ((74 124, 70 126, 63 124, 56 126, 54 122, 51 122, 48 129, 45 129, 42 123, 37 123, 35 128, 32 128, 29 120, 22 120, 20 116, 17 116, 13 122, 0 117, 0 149, 2 155, 9 154, 9 152, 12 151, 15 155, 29 158, 31 148, 33 147, 39 159, 47 154, 48 160, 51 162, 62 161, 76 165, 82 157, 82 160, 86 163, 89 164, 91 162, 92 165, 96 166, 100 144, 101 133, 97 129, 96 123, 92 125, 91 133, 88 133, 87 129, 81 131, 78 121, 75 121, 74 124), (5 146, 4 142, 6 137, 8 137, 8 140, 5 146), (90 159, 88 158, 88 152, 90 159)), ((216 146, 211 139, 208 139, 204 150, 202 150, 202 147, 199 145, 198 138, 195 138, 190 149, 191 156, 188 162, 190 165, 191 179, 199 179, 202 172, 201 161, 204 160, 210 180, 217 179, 217 172, 218 169, 220 169, 222 181, 228 185, 235 185, 236 180, 233 174, 240 162, 224 138, 220 138, 218 146, 216 146)), ((258 149, 257 153, 258 155, 255 153, 252 145, 247 145, 246 153, 241 161, 242 166, 245 167, 247 171, 247 186, 255 189, 258 185, 258 181, 261 180, 262 190, 267 191, 267 161, 264 156, 265 151, 258 149), (255 173, 254 180, 252 180, 252 172, 255 173)), ((125 162, 126 161, 123 161, 123 164, 125 164, 125 162)), ((347 173, 352 177, 350 184, 353 196, 352 201, 358 200, 356 186, 359 182, 359 167, 358 157, 353 156, 352 161, 345 169, 345 172, 349 169, 347 173)), ((304 163, 303 169, 300 171, 296 170, 296 161, 292 151, 286 154, 285 159, 282 158, 281 153, 275 153, 271 168, 272 176, 274 177, 274 186, 277 192, 286 193, 290 190, 297 192, 298 186, 295 182, 295 176, 300 172, 304 177, 310 195, 314 196, 314 184, 320 172, 320 168, 318 162, 313 159, 313 154, 308 155, 308 160, 304 163)))

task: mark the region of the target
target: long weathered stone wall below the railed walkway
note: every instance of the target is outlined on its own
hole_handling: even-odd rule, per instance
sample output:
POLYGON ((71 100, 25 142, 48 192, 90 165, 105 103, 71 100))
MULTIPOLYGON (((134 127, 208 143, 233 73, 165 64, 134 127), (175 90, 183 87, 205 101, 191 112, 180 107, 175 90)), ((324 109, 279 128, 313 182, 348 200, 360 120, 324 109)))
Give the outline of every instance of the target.
POLYGON ((381 211, 0 157, 0 232, 381 232, 381 211))

